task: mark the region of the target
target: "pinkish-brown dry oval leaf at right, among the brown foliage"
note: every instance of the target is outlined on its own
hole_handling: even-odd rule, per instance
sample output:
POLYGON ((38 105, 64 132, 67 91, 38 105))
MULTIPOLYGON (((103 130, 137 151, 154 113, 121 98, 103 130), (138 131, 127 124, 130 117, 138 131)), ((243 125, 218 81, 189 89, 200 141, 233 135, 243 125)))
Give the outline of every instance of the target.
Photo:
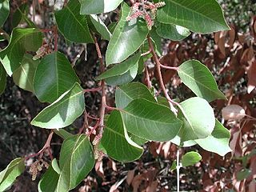
POLYGON ((225 120, 241 120, 246 116, 246 110, 242 106, 230 105, 222 109, 222 118, 225 120))

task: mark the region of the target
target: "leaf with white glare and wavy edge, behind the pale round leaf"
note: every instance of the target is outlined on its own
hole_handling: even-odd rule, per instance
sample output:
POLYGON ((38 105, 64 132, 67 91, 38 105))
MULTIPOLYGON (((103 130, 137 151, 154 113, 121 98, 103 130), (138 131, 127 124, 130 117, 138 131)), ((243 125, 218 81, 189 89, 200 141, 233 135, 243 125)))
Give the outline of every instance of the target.
POLYGON ((229 146, 230 142, 230 131, 215 119, 215 127, 213 132, 207 138, 197 139, 195 142, 204 150, 214 152, 221 156, 232 151, 229 146), (214 145, 213 145, 214 143, 214 145))

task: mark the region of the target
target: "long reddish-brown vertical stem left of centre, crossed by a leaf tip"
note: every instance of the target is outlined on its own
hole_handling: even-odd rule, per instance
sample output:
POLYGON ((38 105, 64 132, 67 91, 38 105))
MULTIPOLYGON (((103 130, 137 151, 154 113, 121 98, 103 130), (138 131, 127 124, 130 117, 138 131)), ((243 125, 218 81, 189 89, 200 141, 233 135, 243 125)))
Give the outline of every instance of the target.
MULTIPOLYGON (((100 62, 100 69, 101 69, 101 72, 103 73, 105 71, 105 66, 104 66, 104 62, 102 59, 102 52, 98 46, 97 38, 95 37, 94 34, 93 34, 93 37, 94 37, 94 44, 96 46, 96 50, 97 50, 97 54, 98 54, 98 59, 100 62)), ((101 87, 102 87, 102 105, 101 105, 101 110, 100 110, 99 126, 98 126, 99 127, 98 134, 100 136, 102 136, 102 133, 103 133, 104 117, 105 117, 105 111, 106 111, 106 90, 105 90, 104 79, 102 79, 102 81, 101 81, 101 87)))

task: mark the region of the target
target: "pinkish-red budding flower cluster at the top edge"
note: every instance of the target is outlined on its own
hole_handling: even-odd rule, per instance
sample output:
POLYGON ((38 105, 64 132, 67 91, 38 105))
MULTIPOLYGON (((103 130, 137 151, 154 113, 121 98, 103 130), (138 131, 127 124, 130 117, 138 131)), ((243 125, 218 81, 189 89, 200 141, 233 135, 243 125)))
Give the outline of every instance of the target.
POLYGON ((134 18, 142 17, 146 21, 146 25, 149 30, 152 29, 154 25, 154 18, 156 16, 158 8, 165 6, 165 2, 135 2, 134 6, 132 6, 132 14, 126 18, 127 21, 130 21, 134 18))

